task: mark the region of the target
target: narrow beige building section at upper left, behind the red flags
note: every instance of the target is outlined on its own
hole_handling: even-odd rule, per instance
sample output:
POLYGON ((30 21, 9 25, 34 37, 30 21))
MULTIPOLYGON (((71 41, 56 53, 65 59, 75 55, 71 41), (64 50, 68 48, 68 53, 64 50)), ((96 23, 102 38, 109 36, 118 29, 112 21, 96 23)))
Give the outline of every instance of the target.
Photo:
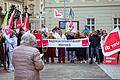
POLYGON ((44 24, 44 0, 24 0, 24 6, 27 6, 28 13, 32 14, 29 17, 31 29, 41 30, 41 25, 44 24))

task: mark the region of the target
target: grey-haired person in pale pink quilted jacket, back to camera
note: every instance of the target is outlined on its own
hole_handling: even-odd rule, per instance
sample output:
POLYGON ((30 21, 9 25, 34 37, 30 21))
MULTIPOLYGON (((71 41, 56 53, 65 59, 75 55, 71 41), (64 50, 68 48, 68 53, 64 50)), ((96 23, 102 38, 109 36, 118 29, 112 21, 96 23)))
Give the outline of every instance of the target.
POLYGON ((34 48, 35 36, 25 33, 20 46, 13 51, 12 63, 15 68, 14 80, 40 80, 39 71, 44 68, 40 52, 34 48))

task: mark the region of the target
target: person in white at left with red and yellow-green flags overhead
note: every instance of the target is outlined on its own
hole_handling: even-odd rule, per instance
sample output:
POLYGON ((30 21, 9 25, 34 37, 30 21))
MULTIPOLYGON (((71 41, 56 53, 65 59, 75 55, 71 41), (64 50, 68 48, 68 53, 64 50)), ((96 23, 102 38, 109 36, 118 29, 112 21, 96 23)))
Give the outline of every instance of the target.
POLYGON ((14 67, 12 65, 12 54, 13 54, 13 49, 17 46, 16 32, 12 30, 14 23, 14 16, 15 16, 15 9, 13 9, 13 6, 11 6, 11 9, 9 8, 6 13, 4 22, 2 24, 2 33, 6 39, 6 52, 7 52, 6 55, 8 58, 8 72, 14 70, 14 67), (10 16, 9 19, 8 16, 10 16))

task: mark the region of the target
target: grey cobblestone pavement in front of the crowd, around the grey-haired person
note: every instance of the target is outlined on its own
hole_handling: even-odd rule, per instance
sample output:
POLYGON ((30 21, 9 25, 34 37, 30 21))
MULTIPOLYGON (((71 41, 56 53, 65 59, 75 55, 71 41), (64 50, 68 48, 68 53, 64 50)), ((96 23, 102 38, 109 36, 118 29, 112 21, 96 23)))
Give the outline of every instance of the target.
MULTIPOLYGON (((12 73, 0 71, 0 80, 13 80, 12 73)), ((41 80, 79 80, 79 79, 111 79, 104 71, 95 63, 85 64, 76 61, 74 64, 69 62, 49 63, 45 64, 45 68, 40 74, 41 80)))

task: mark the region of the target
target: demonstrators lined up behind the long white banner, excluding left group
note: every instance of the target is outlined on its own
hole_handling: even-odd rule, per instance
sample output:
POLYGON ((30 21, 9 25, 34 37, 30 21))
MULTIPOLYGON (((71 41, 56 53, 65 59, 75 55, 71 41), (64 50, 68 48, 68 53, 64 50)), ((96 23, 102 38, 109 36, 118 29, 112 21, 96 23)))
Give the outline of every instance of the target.
POLYGON ((51 38, 47 37, 47 39, 82 39, 82 38, 89 38, 90 45, 87 48, 47 48, 46 53, 48 54, 45 59, 46 62, 49 62, 49 57, 51 57, 51 62, 54 63, 55 56, 58 56, 58 63, 65 63, 65 57, 67 56, 68 60, 70 60, 70 63, 74 63, 75 59, 77 58, 78 61, 81 63, 93 63, 93 60, 96 59, 96 62, 99 64, 103 61, 103 54, 102 50, 100 48, 100 41, 101 39, 104 39, 107 35, 106 30, 96 30, 92 33, 74 33, 74 32, 66 32, 65 34, 62 34, 62 30, 58 28, 57 26, 52 29, 52 32, 50 32, 50 35, 46 34, 47 36, 52 36, 51 38), (53 51, 51 52, 49 51, 53 51), (55 51, 56 50, 56 51, 55 51), (66 51, 67 50, 67 51, 66 51), (67 52, 67 55, 65 55, 67 52), (102 57, 102 60, 101 60, 102 57), (90 61, 89 61, 90 59, 90 61))

